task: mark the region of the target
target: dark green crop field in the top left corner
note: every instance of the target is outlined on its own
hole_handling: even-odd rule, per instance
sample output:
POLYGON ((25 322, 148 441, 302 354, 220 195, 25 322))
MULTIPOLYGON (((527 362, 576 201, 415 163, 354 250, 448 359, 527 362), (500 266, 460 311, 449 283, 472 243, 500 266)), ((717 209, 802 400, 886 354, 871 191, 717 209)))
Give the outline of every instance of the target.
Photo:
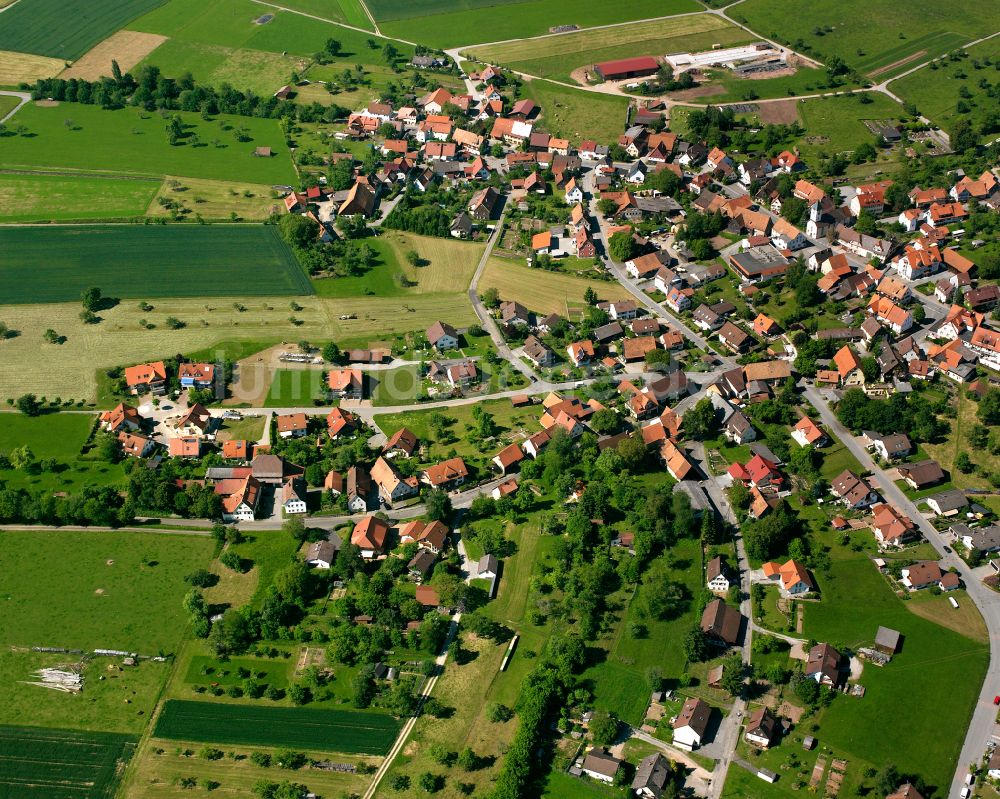
POLYGON ((0 50, 75 61, 166 0, 20 0, 4 12, 0 50))

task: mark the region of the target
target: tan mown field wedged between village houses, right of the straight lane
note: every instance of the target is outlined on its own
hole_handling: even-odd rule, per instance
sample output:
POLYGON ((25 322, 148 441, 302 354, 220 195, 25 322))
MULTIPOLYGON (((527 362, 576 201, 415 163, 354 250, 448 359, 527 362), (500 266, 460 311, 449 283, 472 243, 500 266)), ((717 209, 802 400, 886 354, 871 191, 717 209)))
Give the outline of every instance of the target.
POLYGON ((516 300, 540 314, 579 311, 585 306, 583 295, 588 286, 602 300, 622 300, 629 296, 618 283, 532 269, 520 261, 497 257, 490 258, 479 281, 480 291, 495 288, 500 292, 500 299, 516 300))

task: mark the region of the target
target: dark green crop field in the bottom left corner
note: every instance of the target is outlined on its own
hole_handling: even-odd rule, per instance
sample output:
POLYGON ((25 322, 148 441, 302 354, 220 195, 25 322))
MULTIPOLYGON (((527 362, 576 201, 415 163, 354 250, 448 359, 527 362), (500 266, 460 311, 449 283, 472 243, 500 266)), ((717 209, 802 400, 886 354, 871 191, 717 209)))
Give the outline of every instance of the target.
POLYGON ((0 796, 111 799, 135 745, 109 732, 0 727, 0 796))

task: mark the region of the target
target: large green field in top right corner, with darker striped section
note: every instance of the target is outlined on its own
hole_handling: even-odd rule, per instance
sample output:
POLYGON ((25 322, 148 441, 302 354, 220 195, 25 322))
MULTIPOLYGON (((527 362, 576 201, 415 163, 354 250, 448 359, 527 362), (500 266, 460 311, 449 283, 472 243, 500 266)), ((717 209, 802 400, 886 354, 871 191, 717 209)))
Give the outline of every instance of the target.
POLYGON ((826 61, 842 58, 869 77, 886 78, 1000 29, 997 3, 934 0, 746 0, 733 19, 826 61))

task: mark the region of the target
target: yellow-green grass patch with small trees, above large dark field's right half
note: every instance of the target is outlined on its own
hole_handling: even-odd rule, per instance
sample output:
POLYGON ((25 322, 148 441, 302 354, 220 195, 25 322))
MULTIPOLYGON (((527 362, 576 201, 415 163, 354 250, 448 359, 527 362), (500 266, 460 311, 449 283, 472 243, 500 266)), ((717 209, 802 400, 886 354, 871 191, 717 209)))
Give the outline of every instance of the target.
MULTIPOLYGON (((2 184, 0 184, 2 185, 2 184)), ((171 204, 185 219, 262 221, 283 207, 268 185, 167 176, 146 209, 147 216, 172 216, 171 204), (166 200, 163 204, 160 200, 166 200)))

